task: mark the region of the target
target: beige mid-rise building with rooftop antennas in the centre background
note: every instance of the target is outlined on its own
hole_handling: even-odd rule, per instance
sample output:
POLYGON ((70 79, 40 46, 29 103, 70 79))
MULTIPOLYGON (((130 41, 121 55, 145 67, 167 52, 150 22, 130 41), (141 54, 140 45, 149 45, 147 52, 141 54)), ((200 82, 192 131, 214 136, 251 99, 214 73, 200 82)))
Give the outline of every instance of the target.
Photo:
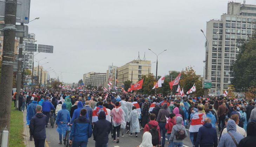
POLYGON ((136 83, 142 75, 151 73, 151 61, 133 60, 117 68, 117 87, 121 88, 125 81, 136 83))

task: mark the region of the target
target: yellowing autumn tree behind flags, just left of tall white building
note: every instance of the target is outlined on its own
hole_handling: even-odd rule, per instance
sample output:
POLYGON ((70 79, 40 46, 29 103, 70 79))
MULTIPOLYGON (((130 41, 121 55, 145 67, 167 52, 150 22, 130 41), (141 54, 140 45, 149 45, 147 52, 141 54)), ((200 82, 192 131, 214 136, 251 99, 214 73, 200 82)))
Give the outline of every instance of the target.
POLYGON ((190 67, 186 67, 186 70, 181 73, 180 87, 184 89, 184 93, 186 93, 195 83, 196 92, 194 92, 194 96, 203 96, 204 90, 202 87, 202 79, 200 80, 200 75, 196 75, 194 69, 190 67))

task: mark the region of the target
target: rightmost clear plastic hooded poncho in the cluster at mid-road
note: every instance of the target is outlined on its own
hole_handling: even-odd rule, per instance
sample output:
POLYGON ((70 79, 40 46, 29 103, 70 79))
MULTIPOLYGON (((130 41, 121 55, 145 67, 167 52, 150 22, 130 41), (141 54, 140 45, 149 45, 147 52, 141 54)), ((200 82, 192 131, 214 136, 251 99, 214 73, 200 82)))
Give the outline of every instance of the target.
POLYGON ((140 132, 140 123, 139 123, 140 114, 134 109, 127 120, 130 122, 130 133, 140 132))

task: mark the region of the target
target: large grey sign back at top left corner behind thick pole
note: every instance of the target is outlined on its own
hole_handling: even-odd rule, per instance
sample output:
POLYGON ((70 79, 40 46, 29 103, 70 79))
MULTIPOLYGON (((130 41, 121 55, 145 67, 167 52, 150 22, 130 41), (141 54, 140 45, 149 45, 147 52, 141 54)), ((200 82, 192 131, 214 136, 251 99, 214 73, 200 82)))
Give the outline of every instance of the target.
MULTIPOLYGON (((0 21, 5 21, 6 0, 0 0, 0 21)), ((30 0, 17 0, 16 22, 29 22, 30 0)))

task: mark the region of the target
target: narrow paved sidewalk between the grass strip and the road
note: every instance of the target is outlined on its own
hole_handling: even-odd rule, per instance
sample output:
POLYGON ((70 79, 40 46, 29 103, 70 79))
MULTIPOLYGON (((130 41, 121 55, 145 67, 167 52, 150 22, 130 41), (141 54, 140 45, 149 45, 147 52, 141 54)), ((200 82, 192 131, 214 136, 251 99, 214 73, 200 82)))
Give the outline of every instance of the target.
POLYGON ((35 147, 34 139, 33 139, 33 141, 29 141, 29 137, 30 137, 30 135, 29 135, 29 127, 28 127, 28 125, 26 125, 27 124, 26 117, 27 117, 27 112, 23 112, 24 144, 25 144, 26 147, 35 147))

